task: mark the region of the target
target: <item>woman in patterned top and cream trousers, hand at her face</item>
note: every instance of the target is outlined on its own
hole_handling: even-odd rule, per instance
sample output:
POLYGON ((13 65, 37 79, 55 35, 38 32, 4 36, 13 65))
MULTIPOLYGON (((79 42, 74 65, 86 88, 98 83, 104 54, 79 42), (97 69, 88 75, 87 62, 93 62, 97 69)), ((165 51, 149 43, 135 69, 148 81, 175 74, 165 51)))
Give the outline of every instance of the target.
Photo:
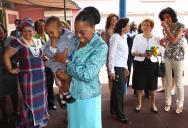
POLYGON ((166 47, 164 53, 164 62, 166 70, 166 85, 165 85, 165 111, 171 109, 172 96, 172 70, 174 71, 174 80, 177 88, 177 108, 176 113, 183 112, 184 103, 184 86, 183 86, 183 69, 184 69, 184 25, 178 22, 176 12, 167 7, 163 9, 159 18, 163 27, 164 38, 161 40, 161 45, 166 47))

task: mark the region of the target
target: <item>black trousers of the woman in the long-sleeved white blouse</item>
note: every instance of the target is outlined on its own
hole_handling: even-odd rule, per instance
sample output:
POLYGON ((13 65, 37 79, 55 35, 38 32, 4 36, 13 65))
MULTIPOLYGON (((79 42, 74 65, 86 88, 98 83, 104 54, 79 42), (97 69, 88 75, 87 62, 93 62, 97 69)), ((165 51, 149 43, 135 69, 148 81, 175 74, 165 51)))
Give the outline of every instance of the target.
POLYGON ((112 92, 110 97, 110 112, 117 118, 126 118, 124 113, 124 68, 115 67, 116 80, 113 81, 112 92))

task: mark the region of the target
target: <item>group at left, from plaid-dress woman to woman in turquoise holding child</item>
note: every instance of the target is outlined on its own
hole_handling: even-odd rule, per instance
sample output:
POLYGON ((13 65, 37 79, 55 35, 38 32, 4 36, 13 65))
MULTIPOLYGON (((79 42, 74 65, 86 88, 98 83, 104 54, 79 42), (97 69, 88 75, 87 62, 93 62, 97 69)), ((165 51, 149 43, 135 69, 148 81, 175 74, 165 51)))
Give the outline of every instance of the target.
POLYGON ((106 62, 108 47, 95 33, 100 19, 96 8, 86 7, 76 16, 75 31, 71 32, 55 16, 35 24, 24 18, 16 23, 14 34, 18 37, 11 39, 0 26, 0 97, 5 120, 5 97, 10 95, 15 103, 16 127, 46 127, 48 108, 56 109, 55 79, 61 103, 68 110, 69 127, 102 127, 99 71, 106 62), (19 108, 18 87, 22 94, 19 108))

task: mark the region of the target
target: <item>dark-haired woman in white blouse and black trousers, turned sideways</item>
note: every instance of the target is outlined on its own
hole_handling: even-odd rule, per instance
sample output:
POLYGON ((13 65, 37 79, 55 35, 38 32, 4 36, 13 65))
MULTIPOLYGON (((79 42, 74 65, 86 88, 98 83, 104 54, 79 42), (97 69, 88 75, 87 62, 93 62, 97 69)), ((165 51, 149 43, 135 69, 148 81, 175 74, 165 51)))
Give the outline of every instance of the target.
POLYGON ((128 46, 126 33, 129 31, 129 19, 122 18, 116 23, 114 34, 110 38, 109 72, 112 80, 110 113, 122 123, 129 123, 124 114, 124 86, 129 75, 127 67, 128 46))

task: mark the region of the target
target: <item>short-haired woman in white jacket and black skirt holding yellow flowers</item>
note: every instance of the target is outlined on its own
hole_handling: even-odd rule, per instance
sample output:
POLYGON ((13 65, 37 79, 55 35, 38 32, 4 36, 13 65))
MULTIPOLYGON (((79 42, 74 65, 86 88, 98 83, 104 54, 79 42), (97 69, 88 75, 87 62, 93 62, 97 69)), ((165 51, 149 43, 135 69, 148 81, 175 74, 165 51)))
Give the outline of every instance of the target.
POLYGON ((151 111, 157 113, 155 96, 158 83, 158 60, 148 50, 153 46, 160 46, 159 38, 151 34, 154 27, 154 22, 151 19, 145 19, 141 27, 143 34, 136 35, 132 47, 132 54, 135 56, 133 85, 137 92, 137 106, 135 111, 139 112, 141 110, 143 90, 147 88, 151 95, 151 111))

